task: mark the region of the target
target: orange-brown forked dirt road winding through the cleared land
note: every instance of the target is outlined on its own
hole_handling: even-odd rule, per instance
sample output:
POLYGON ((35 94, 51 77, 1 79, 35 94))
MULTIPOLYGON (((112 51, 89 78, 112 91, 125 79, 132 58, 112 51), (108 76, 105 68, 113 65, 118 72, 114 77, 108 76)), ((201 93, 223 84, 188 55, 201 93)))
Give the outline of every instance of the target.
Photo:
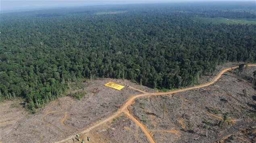
MULTIPOLYGON (((248 66, 256 66, 256 64, 248 64, 248 66)), ((107 122, 111 122, 112 119, 114 119, 115 117, 119 116, 121 113, 125 113, 130 119, 132 119, 136 125, 138 125, 142 131, 145 133, 145 135, 148 137, 148 140, 151 142, 151 143, 155 143, 153 137, 150 135, 150 133, 148 132, 148 130, 146 129, 146 127, 144 127, 144 125, 142 125, 142 123, 140 123, 137 119, 135 119, 128 111, 127 107, 129 105, 131 105, 133 103, 133 101, 137 98, 140 98, 140 97, 148 97, 148 96, 158 96, 158 95, 167 95, 167 94, 173 94, 173 93, 178 93, 178 92, 181 92, 181 91, 187 91, 187 90, 191 90, 191 89, 198 89, 198 88, 201 88, 201 87, 206 87, 206 86, 209 86, 209 85, 212 85, 213 83, 215 83, 216 81, 218 81, 219 78, 221 78, 221 76, 223 75, 223 73, 227 72, 228 70, 231 70, 231 69, 235 69, 235 68, 238 68, 238 66, 234 66, 234 67, 231 67, 231 68, 225 68, 224 70, 222 70, 214 79, 212 79, 212 81, 208 82, 208 83, 204 83, 204 84, 201 84, 201 85, 197 85, 197 86, 194 86, 194 87, 188 87, 188 88, 185 88, 185 89, 177 89, 177 90, 173 90, 173 91, 169 91, 169 92, 160 92, 160 93, 147 93, 145 91, 141 91, 139 89, 135 89, 134 87, 130 87, 131 89, 134 89, 134 90, 137 90, 137 91, 141 91, 142 93, 144 94, 140 94, 140 95, 135 95, 131 98, 128 99, 128 101, 123 105, 123 107, 121 107, 116 113, 114 113, 112 116, 108 117, 107 119, 103 120, 103 121, 99 121, 98 123, 96 123, 95 125, 93 125, 92 127, 89 127, 83 131, 81 131, 80 133, 83 134, 83 133, 87 133, 89 131, 91 131, 92 129, 96 128, 96 127, 99 127, 100 125, 103 125, 104 123, 107 123, 107 122)), ((216 116, 216 115, 215 115, 216 116)), ((219 117, 217 116, 216 118, 219 118, 221 119, 222 117, 219 117)), ((66 142, 66 141, 69 141, 71 140, 75 135, 72 135, 70 137, 67 137, 66 139, 63 139, 62 141, 58 141, 56 143, 62 143, 62 142, 66 142)))

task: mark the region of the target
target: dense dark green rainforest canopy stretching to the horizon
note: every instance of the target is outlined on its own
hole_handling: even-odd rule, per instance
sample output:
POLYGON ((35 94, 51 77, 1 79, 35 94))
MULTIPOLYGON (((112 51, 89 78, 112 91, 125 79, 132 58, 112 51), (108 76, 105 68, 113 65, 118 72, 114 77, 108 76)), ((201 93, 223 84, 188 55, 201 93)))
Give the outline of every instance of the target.
POLYGON ((230 61, 256 62, 255 6, 144 4, 59 8, 1 15, 0 99, 36 111, 75 79, 122 78, 173 89, 230 61))

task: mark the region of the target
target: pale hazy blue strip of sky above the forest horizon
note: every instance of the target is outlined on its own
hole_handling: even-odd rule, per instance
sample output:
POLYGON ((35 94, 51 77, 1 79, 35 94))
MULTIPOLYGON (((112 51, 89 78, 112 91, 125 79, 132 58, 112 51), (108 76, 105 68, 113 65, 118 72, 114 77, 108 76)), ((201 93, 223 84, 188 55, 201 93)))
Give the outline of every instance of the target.
MULTIPOLYGON (((24 8, 36 9, 36 8, 66 7, 66 6, 105 5, 105 4, 142 4, 142 3, 160 3, 160 2, 172 2, 172 1, 184 1, 184 0, 0 0, 0 10, 4 11, 4 10, 19 10, 24 8)), ((194 0, 185 0, 185 1, 194 1, 194 0)), ((201 1, 223 1, 223 0, 201 0, 201 1)), ((235 0, 235 1, 239 1, 239 0, 235 0)), ((244 0, 244 1, 252 1, 252 0, 244 0)))

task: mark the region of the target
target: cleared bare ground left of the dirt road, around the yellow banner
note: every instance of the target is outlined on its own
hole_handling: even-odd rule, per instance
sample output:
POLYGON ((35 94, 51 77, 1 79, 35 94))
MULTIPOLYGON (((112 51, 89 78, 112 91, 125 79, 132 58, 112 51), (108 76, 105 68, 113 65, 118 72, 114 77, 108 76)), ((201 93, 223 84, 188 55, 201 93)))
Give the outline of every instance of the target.
MULTIPOLYGON (((112 81, 123 85, 137 85, 127 80, 97 79, 83 90, 85 96, 75 100, 69 96, 60 97, 41 109, 40 113, 31 115, 19 103, 12 107, 14 101, 1 103, 0 106, 0 141, 12 142, 55 142, 69 135, 94 125, 112 115, 129 97, 140 94, 139 91, 125 86, 121 91, 104 86, 112 81)), ((138 85, 141 90, 154 91, 138 85)), ((89 134, 88 134, 89 135, 89 134)), ((87 137, 87 136, 86 136, 87 137)), ((86 138, 85 137, 85 138, 86 138)), ((97 142, 97 137, 90 136, 97 142)))

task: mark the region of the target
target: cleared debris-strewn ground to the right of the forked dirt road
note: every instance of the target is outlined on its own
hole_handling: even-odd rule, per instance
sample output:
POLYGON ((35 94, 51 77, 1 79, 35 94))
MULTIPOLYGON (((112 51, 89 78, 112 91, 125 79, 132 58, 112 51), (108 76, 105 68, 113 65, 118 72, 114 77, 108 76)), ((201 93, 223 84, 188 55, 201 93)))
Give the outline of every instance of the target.
MULTIPOLYGON (((255 66, 249 67, 246 74, 252 76, 254 70, 255 66)), ((255 95, 254 86, 237 79, 232 70, 207 87, 135 99, 129 111, 151 131, 175 130, 181 135, 152 132, 158 142, 254 142, 255 95)))

